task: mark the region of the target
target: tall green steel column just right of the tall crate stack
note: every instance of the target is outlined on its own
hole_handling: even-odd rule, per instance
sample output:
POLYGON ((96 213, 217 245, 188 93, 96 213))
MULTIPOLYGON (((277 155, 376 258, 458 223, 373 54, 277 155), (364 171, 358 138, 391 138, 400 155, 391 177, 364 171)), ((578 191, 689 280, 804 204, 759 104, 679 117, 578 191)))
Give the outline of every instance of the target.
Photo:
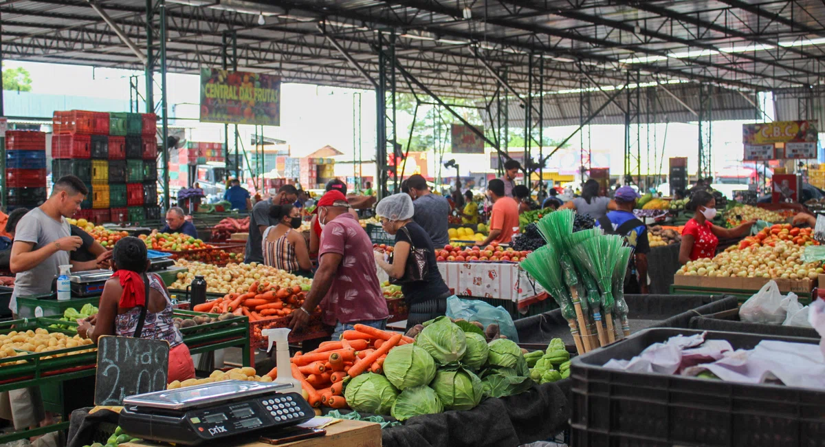
POLYGON ((163 209, 169 209, 169 121, 167 111, 166 95, 166 43, 167 43, 167 23, 166 23, 166 2, 165 0, 146 0, 146 109, 148 113, 154 113, 156 106, 154 103, 154 72, 160 71, 160 103, 157 110, 160 111, 161 120, 161 141, 163 151, 161 152, 160 168, 163 181, 163 209), (154 42, 158 42, 157 52, 154 42))

